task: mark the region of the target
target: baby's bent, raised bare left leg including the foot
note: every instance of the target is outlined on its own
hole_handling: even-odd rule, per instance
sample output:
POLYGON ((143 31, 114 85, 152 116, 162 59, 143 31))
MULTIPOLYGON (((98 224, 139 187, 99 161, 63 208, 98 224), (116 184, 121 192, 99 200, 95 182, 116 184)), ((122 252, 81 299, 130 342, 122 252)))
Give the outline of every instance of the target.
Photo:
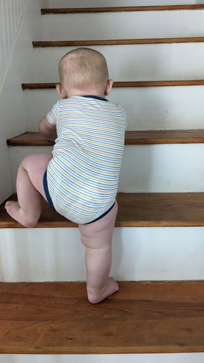
POLYGON ((18 201, 8 201, 5 208, 11 217, 25 227, 35 227, 41 215, 42 198, 46 199, 43 175, 52 157, 52 154, 47 153, 28 155, 18 168, 18 201))

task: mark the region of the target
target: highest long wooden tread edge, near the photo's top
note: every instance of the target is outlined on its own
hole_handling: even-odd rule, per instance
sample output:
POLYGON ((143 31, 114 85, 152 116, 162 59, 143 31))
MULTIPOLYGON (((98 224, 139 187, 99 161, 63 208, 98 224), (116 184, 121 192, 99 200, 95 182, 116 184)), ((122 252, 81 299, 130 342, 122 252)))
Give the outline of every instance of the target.
POLYGON ((54 8, 41 9, 41 14, 75 14, 75 13, 110 13, 127 11, 170 11, 170 10, 202 10, 204 4, 197 5, 157 5, 157 6, 125 6, 103 8, 54 8))

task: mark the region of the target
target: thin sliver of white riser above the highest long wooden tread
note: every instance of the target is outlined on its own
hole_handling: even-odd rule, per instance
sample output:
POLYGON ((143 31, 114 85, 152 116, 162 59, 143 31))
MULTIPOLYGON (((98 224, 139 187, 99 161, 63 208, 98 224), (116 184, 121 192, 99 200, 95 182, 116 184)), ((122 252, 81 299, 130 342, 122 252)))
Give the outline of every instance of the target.
MULTIPOLYGON (((198 1, 197 1, 198 3, 198 1)), ((49 8, 90 8, 109 6, 187 5, 195 0, 49 0, 49 8)), ((201 2, 200 2, 201 4, 201 2)))

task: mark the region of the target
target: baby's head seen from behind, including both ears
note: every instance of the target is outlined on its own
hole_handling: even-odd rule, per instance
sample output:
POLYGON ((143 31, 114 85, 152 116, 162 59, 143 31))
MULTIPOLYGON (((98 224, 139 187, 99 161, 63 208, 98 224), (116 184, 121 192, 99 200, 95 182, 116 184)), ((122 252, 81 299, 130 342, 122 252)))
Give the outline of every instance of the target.
POLYGON ((74 95, 109 94, 113 81, 108 79, 108 67, 104 56, 97 50, 78 48, 65 54, 59 62, 61 84, 57 90, 62 98, 74 95))

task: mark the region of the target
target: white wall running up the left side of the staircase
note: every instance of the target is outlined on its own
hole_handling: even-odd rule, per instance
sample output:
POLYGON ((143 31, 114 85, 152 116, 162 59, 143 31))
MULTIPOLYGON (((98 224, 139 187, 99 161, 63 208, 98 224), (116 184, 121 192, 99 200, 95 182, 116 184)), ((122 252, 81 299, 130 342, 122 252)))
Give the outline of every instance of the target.
MULTIPOLYGON (((26 5, 26 2, 24 1, 24 6, 26 5, 27 7, 22 17, 15 41, 14 18, 12 18, 11 23, 11 14, 14 13, 14 9, 12 10, 12 8, 9 7, 9 4, 13 4, 13 1, 11 3, 8 0, 7 3, 5 0, 0 1, 0 6, 4 11, 4 32, 2 28, 3 23, 0 21, 1 60, 4 60, 4 72, 5 60, 8 62, 7 73, 4 75, 4 79, 0 86, 0 204, 13 192, 10 155, 9 148, 6 146, 6 140, 14 135, 19 135, 26 130, 24 98, 21 83, 25 81, 26 74, 28 74, 32 62, 32 40, 33 38, 38 38, 42 35, 42 17, 40 8, 46 6, 47 2, 43 0, 28 0, 26 5), (7 8, 5 8, 6 4, 7 8), (7 23, 7 9, 8 21, 10 23, 7 23), (11 32, 12 29, 13 33, 11 32), (3 50, 2 36, 4 44, 4 35, 6 37, 6 47, 4 47, 3 50), (10 60, 9 53, 11 54, 10 60)), ((16 17, 16 21, 18 20, 19 22, 20 14, 22 14, 23 2, 20 3, 18 0, 17 4, 21 4, 18 9, 18 17, 16 17)), ((16 11, 17 8, 15 12, 16 11)), ((1 16, 2 14, 0 14, 0 17, 1 16)), ((16 29, 17 25, 15 31, 16 29)))

